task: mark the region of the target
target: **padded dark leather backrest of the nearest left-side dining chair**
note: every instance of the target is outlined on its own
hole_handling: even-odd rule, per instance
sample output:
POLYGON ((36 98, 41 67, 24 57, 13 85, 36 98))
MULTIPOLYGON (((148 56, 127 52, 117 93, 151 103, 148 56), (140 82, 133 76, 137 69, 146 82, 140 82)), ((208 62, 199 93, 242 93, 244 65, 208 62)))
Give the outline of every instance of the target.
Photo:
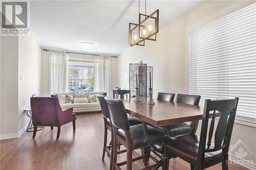
POLYGON ((123 131, 130 130, 127 113, 121 100, 105 97, 106 104, 110 111, 112 125, 123 131))

